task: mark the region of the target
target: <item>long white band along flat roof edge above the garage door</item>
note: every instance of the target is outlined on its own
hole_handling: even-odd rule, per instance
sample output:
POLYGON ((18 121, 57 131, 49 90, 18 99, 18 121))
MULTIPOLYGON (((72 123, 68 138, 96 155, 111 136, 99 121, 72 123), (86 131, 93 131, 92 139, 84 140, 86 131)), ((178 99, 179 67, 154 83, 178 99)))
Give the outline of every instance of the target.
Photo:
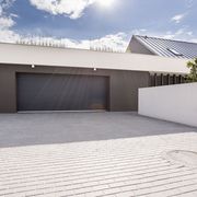
POLYGON ((188 59, 0 43, 0 63, 188 73, 188 59))

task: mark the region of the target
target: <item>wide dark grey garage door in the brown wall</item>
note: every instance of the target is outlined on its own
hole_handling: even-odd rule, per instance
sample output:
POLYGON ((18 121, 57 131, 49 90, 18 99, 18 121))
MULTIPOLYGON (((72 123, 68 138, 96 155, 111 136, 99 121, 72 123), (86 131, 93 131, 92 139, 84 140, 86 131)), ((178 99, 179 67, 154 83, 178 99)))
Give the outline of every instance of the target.
POLYGON ((18 111, 107 109, 108 78, 18 73, 18 111))

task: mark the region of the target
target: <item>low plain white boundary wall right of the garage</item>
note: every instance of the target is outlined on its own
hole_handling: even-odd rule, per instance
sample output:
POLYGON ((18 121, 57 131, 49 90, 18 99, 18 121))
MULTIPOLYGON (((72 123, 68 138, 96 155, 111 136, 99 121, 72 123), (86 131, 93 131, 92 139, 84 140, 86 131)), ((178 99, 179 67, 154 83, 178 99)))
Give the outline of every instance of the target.
POLYGON ((140 89, 139 114, 197 127, 197 83, 140 89))

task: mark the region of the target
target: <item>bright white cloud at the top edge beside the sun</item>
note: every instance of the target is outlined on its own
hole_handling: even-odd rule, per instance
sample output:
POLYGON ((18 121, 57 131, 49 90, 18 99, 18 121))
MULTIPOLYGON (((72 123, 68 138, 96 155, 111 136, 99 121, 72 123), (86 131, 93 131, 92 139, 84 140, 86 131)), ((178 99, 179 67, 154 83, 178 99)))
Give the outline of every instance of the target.
POLYGON ((85 8, 96 0, 30 0, 32 5, 50 14, 65 14, 70 19, 78 19, 85 8))

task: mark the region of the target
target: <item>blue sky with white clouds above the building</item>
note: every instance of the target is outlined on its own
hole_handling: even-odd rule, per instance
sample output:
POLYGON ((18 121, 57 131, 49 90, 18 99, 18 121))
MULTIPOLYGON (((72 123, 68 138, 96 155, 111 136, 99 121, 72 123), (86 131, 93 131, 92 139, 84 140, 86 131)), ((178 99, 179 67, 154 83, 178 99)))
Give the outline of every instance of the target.
POLYGON ((0 0, 0 42, 125 51, 131 36, 197 43, 197 0, 0 0))

